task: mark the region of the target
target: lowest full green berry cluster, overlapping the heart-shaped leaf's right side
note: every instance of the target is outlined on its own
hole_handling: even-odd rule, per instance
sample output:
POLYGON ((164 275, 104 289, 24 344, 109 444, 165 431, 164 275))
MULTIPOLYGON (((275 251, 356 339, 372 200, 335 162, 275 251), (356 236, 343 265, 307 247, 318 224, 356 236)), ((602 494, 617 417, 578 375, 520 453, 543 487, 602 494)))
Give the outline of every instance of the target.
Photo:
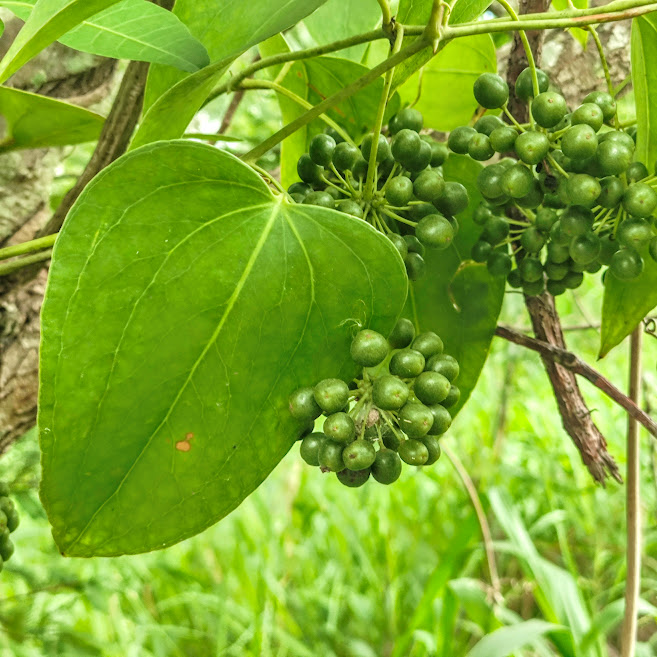
POLYGON ((376 331, 360 331, 351 357, 364 368, 351 386, 324 379, 290 396, 290 413, 308 423, 301 437, 303 460, 335 472, 351 487, 362 486, 370 474, 381 484, 393 483, 402 461, 435 463, 439 436, 452 423, 447 409, 460 396, 453 384, 459 365, 443 353, 442 340, 432 332, 416 336, 413 323, 400 319, 388 340, 376 331), (322 413, 322 431, 314 431, 322 413))

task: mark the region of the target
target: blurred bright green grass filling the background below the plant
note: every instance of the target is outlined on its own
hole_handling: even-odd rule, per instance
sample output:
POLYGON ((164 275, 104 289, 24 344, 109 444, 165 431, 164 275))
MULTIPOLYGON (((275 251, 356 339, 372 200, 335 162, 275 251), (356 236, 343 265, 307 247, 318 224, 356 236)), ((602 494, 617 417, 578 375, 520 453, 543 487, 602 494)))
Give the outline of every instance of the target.
MULTIPOLYGON (((586 323, 599 301, 592 284, 562 297, 564 324, 586 323)), ((518 295, 508 295, 503 321, 527 326, 518 295)), ((568 341, 595 361, 595 330, 569 332, 568 341)), ((654 406, 657 340, 645 343, 654 406)), ((626 364, 624 345, 598 366, 623 387, 626 364)), ((588 383, 582 388, 623 468, 622 410, 588 383)), ((567 630, 534 637, 515 655, 618 654, 624 490, 592 482, 560 427, 538 357, 496 339, 445 440, 492 525, 497 601, 476 515, 446 458, 406 468, 391 487, 351 490, 303 465, 293 448, 255 494, 200 536, 138 557, 65 560, 38 503, 38 452, 28 435, 2 461, 20 491, 22 524, 0 576, 0 657, 464 657, 483 636, 523 619, 567 630)), ((643 496, 639 657, 657 647, 657 495, 645 435, 643 496)))

